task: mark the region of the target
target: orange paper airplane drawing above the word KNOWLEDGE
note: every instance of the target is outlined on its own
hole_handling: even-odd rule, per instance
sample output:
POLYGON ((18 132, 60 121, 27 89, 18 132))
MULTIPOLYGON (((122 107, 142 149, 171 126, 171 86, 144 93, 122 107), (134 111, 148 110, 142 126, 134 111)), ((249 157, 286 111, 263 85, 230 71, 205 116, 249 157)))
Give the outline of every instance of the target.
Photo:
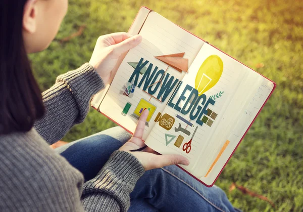
POLYGON ((161 60, 162 62, 166 63, 167 65, 173 67, 179 72, 188 70, 188 59, 183 58, 185 52, 177 53, 177 54, 171 54, 171 55, 161 55, 156 56, 158 60, 161 60))

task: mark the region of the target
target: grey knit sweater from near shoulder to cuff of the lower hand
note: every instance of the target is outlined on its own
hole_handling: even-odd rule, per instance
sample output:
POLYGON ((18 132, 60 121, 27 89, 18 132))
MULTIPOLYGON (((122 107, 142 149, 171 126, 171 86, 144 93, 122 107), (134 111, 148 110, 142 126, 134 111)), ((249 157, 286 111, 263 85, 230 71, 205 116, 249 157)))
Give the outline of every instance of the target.
POLYGON ((115 151, 98 175, 83 175, 35 132, 0 135, 0 211, 127 211, 143 175, 129 152, 115 151))

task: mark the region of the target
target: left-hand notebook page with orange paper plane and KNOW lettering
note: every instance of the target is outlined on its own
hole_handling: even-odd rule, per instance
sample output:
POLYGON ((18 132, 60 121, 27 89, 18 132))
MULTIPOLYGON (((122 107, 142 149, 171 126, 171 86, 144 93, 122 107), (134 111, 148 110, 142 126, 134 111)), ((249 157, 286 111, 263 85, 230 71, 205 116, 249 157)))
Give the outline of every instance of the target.
POLYGON ((142 43, 125 56, 99 110, 130 132, 142 111, 149 110, 145 140, 187 71, 181 70, 186 69, 184 61, 189 67, 204 41, 155 12, 139 34, 142 43))

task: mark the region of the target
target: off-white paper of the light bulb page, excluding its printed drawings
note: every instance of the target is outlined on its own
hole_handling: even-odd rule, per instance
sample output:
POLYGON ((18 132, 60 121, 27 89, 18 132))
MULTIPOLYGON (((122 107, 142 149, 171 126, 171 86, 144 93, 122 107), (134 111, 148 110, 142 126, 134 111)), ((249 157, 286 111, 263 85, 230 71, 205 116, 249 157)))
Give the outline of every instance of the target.
MULTIPOLYGON (((182 167, 207 185, 212 185, 215 181, 273 89, 273 83, 270 80, 245 67, 216 48, 205 44, 193 61, 188 73, 183 78, 182 86, 180 86, 177 95, 174 97, 173 103, 176 104, 186 84, 195 88, 194 79, 197 71, 210 55, 218 55, 224 64, 219 82, 204 93, 208 99, 210 96, 224 91, 221 97, 216 98, 214 105, 209 104, 208 106, 209 109, 218 114, 212 126, 210 127, 207 124, 200 126, 195 120, 190 120, 188 114, 183 115, 174 108, 167 106, 162 114, 169 114, 175 118, 173 128, 167 131, 160 124, 156 124, 145 142, 146 145, 161 154, 181 154, 187 157, 190 160, 190 165, 182 167), (177 114, 189 120, 194 126, 191 127, 176 118, 177 114), (174 130, 175 127, 178 128, 179 123, 190 132, 189 136, 183 132, 176 132, 174 130), (191 143, 192 149, 189 153, 186 153, 182 147, 191 139, 196 126, 198 128, 191 143), (165 140, 165 134, 175 136, 168 145, 165 140), (180 147, 174 145, 178 135, 184 137, 180 147), (217 158, 222 147, 225 146, 224 144, 227 140, 229 143, 227 143, 223 153, 208 173, 212 163, 217 158), (208 176, 204 177, 207 173, 208 176)), ((186 96, 186 99, 189 94, 189 91, 185 93, 184 96, 186 96)), ((185 101, 183 101, 183 104, 185 101)), ((181 103, 179 105, 180 107, 183 106, 181 103)))

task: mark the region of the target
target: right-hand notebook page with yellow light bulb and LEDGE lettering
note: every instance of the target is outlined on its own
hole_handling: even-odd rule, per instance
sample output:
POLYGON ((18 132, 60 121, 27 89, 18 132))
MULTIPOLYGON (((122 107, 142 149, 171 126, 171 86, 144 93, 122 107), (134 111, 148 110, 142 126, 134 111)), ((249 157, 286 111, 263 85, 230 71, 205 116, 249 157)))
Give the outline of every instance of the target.
POLYGON ((264 76, 204 44, 145 143, 161 154, 187 157, 190 165, 181 166, 212 185, 273 88, 264 76), (170 129, 168 118, 174 120, 170 129))

